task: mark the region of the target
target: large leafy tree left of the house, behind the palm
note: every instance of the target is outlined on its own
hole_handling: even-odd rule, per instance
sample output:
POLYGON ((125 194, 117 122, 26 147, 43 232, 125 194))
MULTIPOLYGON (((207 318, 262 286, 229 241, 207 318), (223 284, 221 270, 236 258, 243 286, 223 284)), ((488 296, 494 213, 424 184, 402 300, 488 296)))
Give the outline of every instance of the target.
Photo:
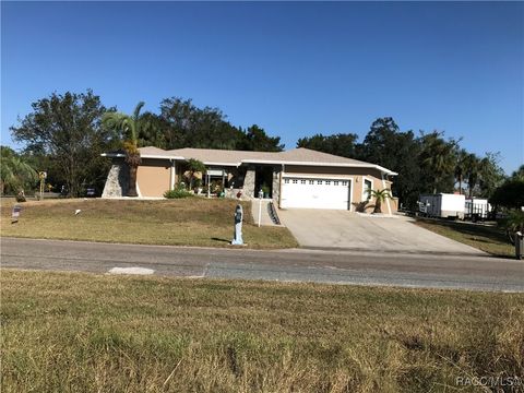
POLYGON ((52 93, 32 104, 33 111, 11 127, 13 139, 39 170, 47 170, 69 194, 80 196, 86 186, 102 190, 110 162, 100 154, 115 147, 110 132, 100 127, 107 111, 100 98, 86 93, 52 93), (40 164, 45 165, 40 165, 40 164))

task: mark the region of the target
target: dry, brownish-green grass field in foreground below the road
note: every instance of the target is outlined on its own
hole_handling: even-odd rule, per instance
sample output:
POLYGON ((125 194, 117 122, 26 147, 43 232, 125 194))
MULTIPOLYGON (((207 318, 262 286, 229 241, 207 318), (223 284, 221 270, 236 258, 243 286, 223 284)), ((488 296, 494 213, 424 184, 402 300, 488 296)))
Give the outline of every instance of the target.
POLYGON ((2 392, 476 392, 524 295, 1 272, 2 392))

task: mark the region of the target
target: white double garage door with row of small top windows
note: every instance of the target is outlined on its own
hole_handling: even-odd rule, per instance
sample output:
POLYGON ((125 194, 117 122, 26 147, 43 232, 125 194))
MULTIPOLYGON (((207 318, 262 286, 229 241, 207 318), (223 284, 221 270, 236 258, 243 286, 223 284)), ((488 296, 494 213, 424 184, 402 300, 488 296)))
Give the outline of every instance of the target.
POLYGON ((281 207, 349 210, 350 181, 286 177, 282 184, 281 207))

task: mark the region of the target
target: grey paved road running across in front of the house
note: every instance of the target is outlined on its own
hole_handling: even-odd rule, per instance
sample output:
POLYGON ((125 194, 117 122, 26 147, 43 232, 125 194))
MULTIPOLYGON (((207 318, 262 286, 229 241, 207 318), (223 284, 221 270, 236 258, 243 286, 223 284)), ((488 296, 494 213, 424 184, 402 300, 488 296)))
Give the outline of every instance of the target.
POLYGON ((108 273, 524 291, 524 262, 486 257, 324 250, 257 251, 1 239, 1 266, 108 273), (114 270, 115 271, 115 270, 114 270), (146 271, 147 272, 147 271, 146 271))

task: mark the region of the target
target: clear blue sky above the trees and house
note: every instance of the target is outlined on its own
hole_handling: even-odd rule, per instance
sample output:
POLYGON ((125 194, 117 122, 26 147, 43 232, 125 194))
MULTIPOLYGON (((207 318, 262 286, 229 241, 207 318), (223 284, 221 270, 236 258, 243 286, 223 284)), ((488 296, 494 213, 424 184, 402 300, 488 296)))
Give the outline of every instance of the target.
MULTIPOLYGON (((523 2, 4 2, 1 143, 51 92, 221 108, 293 148, 393 117, 524 163, 523 2)), ((20 147, 20 146, 16 146, 20 147)))

